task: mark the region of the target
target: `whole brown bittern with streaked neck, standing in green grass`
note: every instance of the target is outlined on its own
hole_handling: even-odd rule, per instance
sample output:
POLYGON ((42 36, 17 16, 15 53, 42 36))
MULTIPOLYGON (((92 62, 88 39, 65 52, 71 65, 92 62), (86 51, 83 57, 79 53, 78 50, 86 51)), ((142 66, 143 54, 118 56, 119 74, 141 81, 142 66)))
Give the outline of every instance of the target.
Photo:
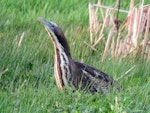
POLYGON ((116 82, 104 72, 72 59, 65 35, 56 23, 41 17, 38 20, 43 23, 54 44, 54 76, 60 90, 70 86, 73 90, 105 93, 115 86, 116 82))

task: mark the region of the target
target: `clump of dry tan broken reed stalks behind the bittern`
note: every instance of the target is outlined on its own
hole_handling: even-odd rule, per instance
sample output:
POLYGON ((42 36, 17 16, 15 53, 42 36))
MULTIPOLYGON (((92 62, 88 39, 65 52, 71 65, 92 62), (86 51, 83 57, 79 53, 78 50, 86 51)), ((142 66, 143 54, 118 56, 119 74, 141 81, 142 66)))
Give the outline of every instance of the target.
POLYGON ((140 55, 150 60, 150 5, 144 6, 142 2, 135 7, 131 0, 129 11, 117 10, 116 6, 102 6, 100 0, 97 4, 89 4, 91 47, 106 38, 102 61, 109 53, 113 59, 140 55), (115 11, 127 13, 126 19, 123 22, 116 19, 115 11), (101 19, 98 19, 99 14, 101 19), (106 30, 108 36, 104 36, 106 30))

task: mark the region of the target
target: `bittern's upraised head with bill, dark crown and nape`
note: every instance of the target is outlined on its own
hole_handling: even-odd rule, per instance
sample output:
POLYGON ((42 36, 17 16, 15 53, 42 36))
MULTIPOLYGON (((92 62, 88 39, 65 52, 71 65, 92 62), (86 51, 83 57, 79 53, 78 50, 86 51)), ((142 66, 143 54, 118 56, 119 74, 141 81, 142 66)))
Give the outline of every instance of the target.
POLYGON ((56 47, 59 47, 59 44, 62 45, 64 51, 70 55, 69 46, 62 29, 56 23, 47 21, 41 17, 38 17, 38 20, 43 23, 52 41, 56 44, 56 47))

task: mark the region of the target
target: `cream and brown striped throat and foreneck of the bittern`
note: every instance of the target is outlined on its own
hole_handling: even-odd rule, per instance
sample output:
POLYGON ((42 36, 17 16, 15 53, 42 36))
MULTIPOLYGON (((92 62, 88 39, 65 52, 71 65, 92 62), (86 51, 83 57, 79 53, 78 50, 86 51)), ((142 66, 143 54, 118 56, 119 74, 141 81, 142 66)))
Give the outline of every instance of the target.
POLYGON ((55 45, 54 48, 55 48, 54 76, 58 88, 60 90, 63 90, 64 86, 69 85, 68 81, 71 79, 69 57, 65 53, 63 47, 55 45))

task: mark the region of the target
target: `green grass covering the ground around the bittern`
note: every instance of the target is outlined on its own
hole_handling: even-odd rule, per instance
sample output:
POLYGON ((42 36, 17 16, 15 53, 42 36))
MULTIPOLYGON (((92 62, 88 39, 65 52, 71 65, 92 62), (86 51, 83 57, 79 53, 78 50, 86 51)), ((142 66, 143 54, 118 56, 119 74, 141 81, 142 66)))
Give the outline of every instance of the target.
MULTIPOLYGON (((103 3, 114 4, 112 0, 103 3)), ((122 9, 127 9, 128 4, 124 1, 122 9)), ((1 0, 0 11, 0 72, 9 69, 0 75, 1 113, 150 111, 150 63, 138 58, 108 58, 102 64, 101 50, 92 53, 84 44, 89 42, 87 0, 1 0), (60 92, 53 78, 53 45, 37 21, 38 16, 62 27, 74 59, 118 79, 123 89, 108 95, 72 93, 69 89, 67 93, 60 92), (18 47, 23 32, 24 40, 18 47)))

